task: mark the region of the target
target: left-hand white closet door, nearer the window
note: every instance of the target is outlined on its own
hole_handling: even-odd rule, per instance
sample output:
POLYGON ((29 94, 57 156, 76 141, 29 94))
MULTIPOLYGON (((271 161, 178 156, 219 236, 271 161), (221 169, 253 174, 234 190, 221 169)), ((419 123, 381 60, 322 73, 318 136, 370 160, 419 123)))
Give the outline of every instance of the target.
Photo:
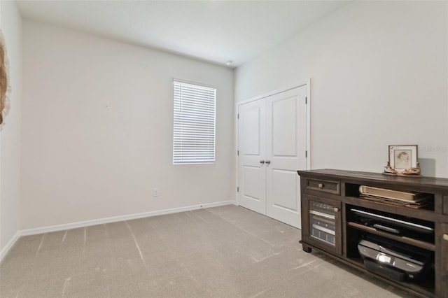
POLYGON ((265 101, 239 106, 239 205, 266 214, 265 101))

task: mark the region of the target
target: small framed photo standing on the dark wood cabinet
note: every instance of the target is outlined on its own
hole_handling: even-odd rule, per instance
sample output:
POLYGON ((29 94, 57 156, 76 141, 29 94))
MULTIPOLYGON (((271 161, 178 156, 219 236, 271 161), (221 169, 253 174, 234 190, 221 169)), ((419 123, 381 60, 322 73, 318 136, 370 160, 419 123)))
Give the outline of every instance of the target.
POLYGON ((416 145, 389 145, 389 163, 398 173, 416 168, 418 160, 416 145))

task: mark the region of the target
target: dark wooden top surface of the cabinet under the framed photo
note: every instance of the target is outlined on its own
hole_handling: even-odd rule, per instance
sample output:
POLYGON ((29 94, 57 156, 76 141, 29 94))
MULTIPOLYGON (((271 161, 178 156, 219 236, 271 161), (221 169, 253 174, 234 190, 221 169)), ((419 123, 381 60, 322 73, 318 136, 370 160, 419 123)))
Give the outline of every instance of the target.
POLYGON ((381 173, 370 173, 362 171, 346 171, 337 169, 318 169, 297 171, 300 176, 316 177, 316 178, 334 178, 339 180, 353 180, 360 182, 384 183, 387 185, 403 185, 411 187, 428 187, 434 190, 444 190, 448 192, 448 178, 434 177, 402 177, 402 176, 386 176, 381 173))

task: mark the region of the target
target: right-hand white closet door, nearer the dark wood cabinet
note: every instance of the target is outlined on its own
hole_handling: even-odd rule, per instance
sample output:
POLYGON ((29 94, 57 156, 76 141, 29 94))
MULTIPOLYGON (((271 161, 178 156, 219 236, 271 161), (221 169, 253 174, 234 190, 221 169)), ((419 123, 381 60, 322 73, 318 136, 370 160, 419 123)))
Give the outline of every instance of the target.
POLYGON ((307 86, 267 97, 266 215, 300 228, 300 179, 307 169, 307 86))

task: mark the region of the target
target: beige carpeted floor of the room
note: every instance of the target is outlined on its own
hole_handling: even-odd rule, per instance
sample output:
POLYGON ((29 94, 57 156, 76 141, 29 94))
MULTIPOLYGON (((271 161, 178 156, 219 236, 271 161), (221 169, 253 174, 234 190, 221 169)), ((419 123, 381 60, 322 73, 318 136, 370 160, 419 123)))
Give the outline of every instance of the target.
POLYGON ((238 206, 25 236, 0 297, 412 297, 299 240, 238 206))

